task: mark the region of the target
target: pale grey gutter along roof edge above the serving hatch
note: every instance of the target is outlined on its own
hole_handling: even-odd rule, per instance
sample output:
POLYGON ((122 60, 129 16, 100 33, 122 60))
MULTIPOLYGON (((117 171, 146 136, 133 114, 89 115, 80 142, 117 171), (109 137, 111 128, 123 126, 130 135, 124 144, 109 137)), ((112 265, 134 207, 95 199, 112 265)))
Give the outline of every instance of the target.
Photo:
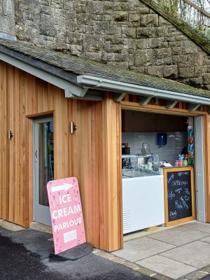
POLYGON ((210 98, 200 97, 193 94, 183 94, 182 92, 173 92, 169 90, 161 90, 153 87, 145 87, 131 83, 123 83, 116 80, 109 80, 95 76, 80 75, 77 77, 79 85, 88 86, 90 88, 98 88, 100 90, 111 90, 113 92, 127 92, 139 96, 157 97, 161 99, 172 99, 182 102, 189 102, 202 105, 210 105, 210 98))

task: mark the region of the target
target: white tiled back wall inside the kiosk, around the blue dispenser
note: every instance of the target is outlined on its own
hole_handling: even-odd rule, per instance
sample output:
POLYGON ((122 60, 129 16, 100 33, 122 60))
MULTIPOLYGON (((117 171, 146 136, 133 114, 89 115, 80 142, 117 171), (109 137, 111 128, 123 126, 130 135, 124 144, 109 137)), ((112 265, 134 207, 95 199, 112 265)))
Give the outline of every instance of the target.
MULTIPOLYGON (((158 132, 157 132, 158 133, 158 132)), ((160 161, 169 160, 174 165, 184 146, 188 146, 188 132, 167 132, 167 145, 158 146, 156 132, 123 132, 122 142, 128 143, 131 154, 140 153, 143 143, 148 143, 151 153, 160 161)))

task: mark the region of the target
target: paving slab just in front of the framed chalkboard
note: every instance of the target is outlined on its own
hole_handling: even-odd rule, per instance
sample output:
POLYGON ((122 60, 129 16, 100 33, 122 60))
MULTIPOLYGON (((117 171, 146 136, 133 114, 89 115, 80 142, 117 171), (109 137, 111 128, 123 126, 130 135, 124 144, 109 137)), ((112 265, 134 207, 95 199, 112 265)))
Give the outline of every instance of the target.
POLYGON ((150 235, 149 238, 157 239, 176 246, 181 246, 208 236, 209 233, 207 232, 200 232, 190 228, 179 227, 150 235))

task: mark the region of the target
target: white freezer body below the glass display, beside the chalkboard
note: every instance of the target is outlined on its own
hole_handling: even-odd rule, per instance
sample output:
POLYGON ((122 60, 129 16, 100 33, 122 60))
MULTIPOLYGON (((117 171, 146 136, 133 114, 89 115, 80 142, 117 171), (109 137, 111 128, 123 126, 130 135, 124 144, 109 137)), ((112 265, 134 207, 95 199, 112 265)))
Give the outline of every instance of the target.
POLYGON ((165 222, 163 175, 123 172, 123 234, 165 222))

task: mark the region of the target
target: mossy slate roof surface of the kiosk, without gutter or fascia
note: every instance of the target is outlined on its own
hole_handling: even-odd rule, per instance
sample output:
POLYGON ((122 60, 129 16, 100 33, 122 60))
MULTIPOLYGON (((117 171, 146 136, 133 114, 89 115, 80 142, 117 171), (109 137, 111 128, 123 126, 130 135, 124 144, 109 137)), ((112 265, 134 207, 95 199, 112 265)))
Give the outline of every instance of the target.
MULTIPOLYGON (((190 87, 174 80, 158 78, 138 73, 136 71, 119 69, 99 62, 93 62, 92 60, 85 58, 69 55, 68 53, 48 50, 20 41, 0 39, 0 52, 10 55, 11 57, 16 57, 28 64, 44 69, 50 73, 54 73, 55 75, 58 75, 58 70, 60 70, 64 73, 64 75, 62 73, 60 73, 60 75, 66 80, 72 81, 72 74, 89 75, 134 85, 142 85, 144 87, 153 87, 160 90, 193 94, 210 99, 209 90, 190 87)), ((76 82, 75 78, 74 82, 76 82)))

